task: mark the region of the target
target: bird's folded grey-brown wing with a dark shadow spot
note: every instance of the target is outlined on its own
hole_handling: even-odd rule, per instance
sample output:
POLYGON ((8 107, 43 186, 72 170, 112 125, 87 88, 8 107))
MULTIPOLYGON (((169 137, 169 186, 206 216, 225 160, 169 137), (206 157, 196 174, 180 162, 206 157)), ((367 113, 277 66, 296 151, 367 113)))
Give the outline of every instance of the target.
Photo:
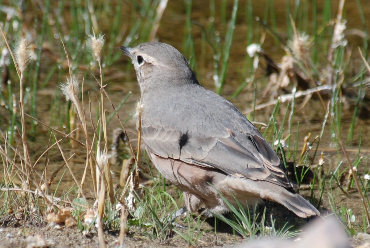
POLYGON ((146 149, 163 158, 292 187, 275 151, 259 135, 225 129, 222 135, 202 137, 190 130, 144 124, 141 137, 146 149))

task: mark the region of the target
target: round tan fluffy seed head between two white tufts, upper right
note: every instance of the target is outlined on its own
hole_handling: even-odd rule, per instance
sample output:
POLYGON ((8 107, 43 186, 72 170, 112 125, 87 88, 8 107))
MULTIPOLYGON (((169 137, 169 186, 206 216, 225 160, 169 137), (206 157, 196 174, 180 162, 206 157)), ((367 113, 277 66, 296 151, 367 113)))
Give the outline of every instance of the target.
POLYGON ((309 57, 311 46, 310 36, 305 33, 295 34, 293 40, 289 40, 288 42, 288 47, 292 51, 293 56, 303 61, 309 57))

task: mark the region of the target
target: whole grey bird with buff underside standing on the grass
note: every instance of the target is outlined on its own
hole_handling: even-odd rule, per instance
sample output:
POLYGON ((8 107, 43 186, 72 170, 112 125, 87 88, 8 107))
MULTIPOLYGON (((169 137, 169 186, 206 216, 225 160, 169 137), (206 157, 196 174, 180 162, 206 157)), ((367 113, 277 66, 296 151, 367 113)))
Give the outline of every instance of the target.
POLYGON ((228 100, 199 85, 174 47, 120 47, 132 59, 141 92, 141 139, 158 171, 184 194, 185 207, 224 213, 235 198, 278 202, 300 217, 320 215, 293 191, 275 151, 228 100))

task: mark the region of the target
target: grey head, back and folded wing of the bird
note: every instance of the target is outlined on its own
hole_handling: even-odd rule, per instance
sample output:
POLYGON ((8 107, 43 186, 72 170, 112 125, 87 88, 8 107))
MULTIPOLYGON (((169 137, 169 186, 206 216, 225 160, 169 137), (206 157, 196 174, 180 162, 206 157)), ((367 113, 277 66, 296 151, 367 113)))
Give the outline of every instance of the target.
POLYGON ((275 151, 255 126, 228 100, 194 83, 178 50, 163 43, 134 49, 153 61, 139 68, 147 73, 143 82, 138 76, 142 138, 150 152, 290 187, 275 151))

